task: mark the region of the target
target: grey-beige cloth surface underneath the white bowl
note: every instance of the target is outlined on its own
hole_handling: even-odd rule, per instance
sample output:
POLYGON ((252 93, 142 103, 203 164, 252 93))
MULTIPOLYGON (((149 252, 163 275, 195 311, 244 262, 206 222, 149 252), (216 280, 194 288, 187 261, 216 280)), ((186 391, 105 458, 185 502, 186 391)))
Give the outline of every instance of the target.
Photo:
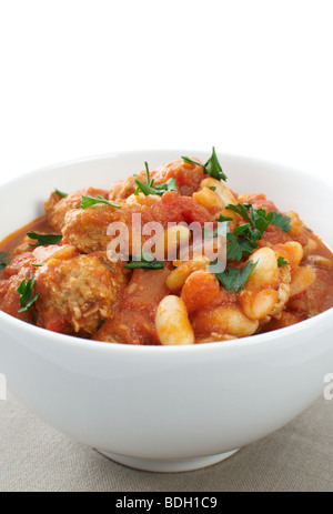
POLYGON ((205 470, 130 470, 77 443, 9 396, 0 401, 0 491, 333 492, 333 401, 205 470))

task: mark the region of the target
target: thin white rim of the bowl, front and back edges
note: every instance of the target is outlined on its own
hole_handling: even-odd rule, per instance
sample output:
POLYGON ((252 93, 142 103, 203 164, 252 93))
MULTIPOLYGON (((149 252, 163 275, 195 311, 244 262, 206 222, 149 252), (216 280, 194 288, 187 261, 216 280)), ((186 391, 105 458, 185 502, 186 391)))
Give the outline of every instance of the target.
MULTIPOLYGON (((130 155, 147 155, 148 153, 152 154, 152 153, 174 153, 174 154, 200 154, 200 155, 203 155, 203 154, 208 154, 206 151, 203 151, 203 150, 189 150, 189 149, 183 149, 183 150, 179 150, 179 149, 172 149, 172 148, 160 148, 160 149, 139 149, 139 150, 121 150, 121 151, 115 151, 115 152, 111 152, 111 153, 103 153, 103 154, 98 154, 98 155, 88 155, 88 157, 83 157, 83 158, 78 158, 78 159, 71 159, 71 160, 64 160, 64 161, 61 161, 61 162, 58 162, 58 163, 54 163, 54 164, 51 164, 51 165, 47 165, 47 167, 42 167, 42 168, 39 168, 39 169, 36 169, 36 170, 31 170, 31 171, 28 171, 23 174, 20 174, 11 180, 8 180, 6 182, 3 182, 2 184, 0 184, 0 195, 1 195, 1 192, 2 190, 4 190, 7 187, 12 187, 12 185, 16 185, 17 183, 21 182, 22 180, 26 180, 26 179, 31 179, 33 175, 38 175, 38 174, 43 174, 43 173, 47 173, 51 170, 57 170, 57 169, 61 169, 61 168, 64 168, 64 167, 69 167, 69 165, 75 165, 75 164, 80 164, 80 163, 87 163, 87 162, 93 162, 93 161, 101 161, 101 160, 112 160, 112 159, 121 159, 123 157, 130 157, 130 155)), ((248 155, 238 155, 235 153, 225 153, 225 152, 216 152, 218 155, 220 157, 221 155, 221 159, 222 157, 224 158, 229 158, 231 160, 238 160, 238 161, 242 161, 242 162, 251 162, 252 164, 254 163, 258 163, 259 165, 268 165, 268 167, 278 167, 278 168, 281 168, 281 169, 287 169, 290 172, 292 172, 293 174, 297 174, 297 175, 301 175, 303 178, 309 178, 311 180, 314 180, 321 184, 322 187, 326 187, 326 188, 330 188, 332 191, 333 191, 333 185, 330 183, 330 182, 326 182, 325 180, 323 180, 322 178, 317 179, 314 174, 310 173, 309 171, 303 171, 303 170, 300 170, 297 168, 293 168, 289 164, 284 164, 284 163, 281 163, 281 162, 278 162, 278 161, 271 161, 271 160, 266 160, 266 159, 258 159, 258 158, 254 158, 254 157, 248 157, 248 155)), ((325 243, 326 244, 326 243, 325 243)), ((253 346, 258 346, 258 345, 261 345, 261 344, 265 344, 268 342, 272 342, 272 341, 275 341, 275 340, 280 340, 281 337, 284 337, 284 336, 287 336, 287 335, 293 335, 293 334, 297 334, 299 332, 302 332, 302 331, 306 331, 307 329, 312 327, 312 326, 316 326, 317 324, 320 324, 322 321, 324 322, 326 319, 331 319, 333 320, 333 308, 311 318, 311 319, 307 319, 307 320, 304 320, 300 323, 296 323, 294 325, 290 325, 290 326, 286 326, 286 327, 282 327, 282 329, 276 329, 274 331, 271 331, 271 332, 264 332, 264 333, 260 333, 260 334, 254 334, 254 335, 249 335, 249 336, 245 336, 245 337, 238 337, 238 339, 231 339, 231 340, 226 340, 226 341, 212 341, 212 342, 208 342, 208 343, 198 343, 198 344, 190 344, 190 345, 135 345, 135 344, 127 344, 127 343, 111 343, 111 342, 104 342, 104 341, 93 341, 93 340, 89 340, 89 339, 83 339, 83 337, 75 337, 73 335, 67 335, 67 334, 60 334, 60 333, 57 333, 57 332, 52 332, 52 331, 48 331, 46 329, 42 329, 42 327, 39 327, 39 326, 36 326, 36 325, 32 325, 30 323, 27 323, 27 322, 23 322, 21 320, 18 320, 13 316, 11 316, 10 314, 7 314, 2 311, 0 311, 0 323, 1 324, 6 324, 7 327, 10 330, 19 330, 20 332, 21 331, 28 331, 31 333, 31 335, 36 335, 36 336, 39 336, 38 339, 41 337, 47 337, 47 339, 51 339, 52 341, 54 341, 57 344, 62 344, 62 345, 65 345, 65 346, 72 346, 72 347, 75 347, 75 349, 80 349, 80 347, 85 347, 87 350, 90 347, 90 349, 94 349, 95 351, 107 351, 107 352, 140 352, 142 353, 143 352, 149 352, 149 353, 157 353, 157 352, 176 352, 178 354, 180 353, 183 353, 183 352, 191 352, 193 353, 193 351, 196 353, 196 352, 201 352, 201 351, 208 351, 208 349, 211 349, 211 351, 215 350, 216 347, 222 347, 224 349, 225 351, 228 349, 234 349, 234 351, 236 351, 236 349, 243 349, 243 347, 249 347, 249 345, 253 346), (142 350, 144 347, 144 350, 142 350), (110 350, 105 350, 105 349, 110 349, 110 350), (162 350, 163 349, 163 350, 162 350), (194 350, 195 349, 195 350, 194 350), (205 350, 204 350, 205 349, 205 350)), ((8 333, 8 329, 6 330, 6 332, 8 333)), ((210 351, 210 350, 209 350, 210 351)))

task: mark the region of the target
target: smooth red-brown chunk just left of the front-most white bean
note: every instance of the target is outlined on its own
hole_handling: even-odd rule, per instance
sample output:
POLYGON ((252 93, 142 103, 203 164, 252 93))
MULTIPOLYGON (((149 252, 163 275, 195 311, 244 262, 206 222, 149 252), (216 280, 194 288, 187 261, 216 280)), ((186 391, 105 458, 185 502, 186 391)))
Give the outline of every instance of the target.
POLYGON ((160 301, 169 294, 165 283, 169 273, 167 268, 134 270, 112 318, 93 339, 125 344, 160 344, 154 318, 160 301))

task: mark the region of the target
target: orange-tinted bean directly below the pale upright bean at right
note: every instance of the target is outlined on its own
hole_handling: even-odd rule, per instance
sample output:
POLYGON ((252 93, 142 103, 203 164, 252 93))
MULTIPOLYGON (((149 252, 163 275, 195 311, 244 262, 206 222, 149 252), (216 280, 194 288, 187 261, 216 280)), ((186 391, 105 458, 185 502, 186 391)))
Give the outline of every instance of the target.
POLYGON ((240 302, 244 314, 251 320, 262 320, 273 310, 279 300, 279 292, 264 289, 259 293, 242 291, 240 302))

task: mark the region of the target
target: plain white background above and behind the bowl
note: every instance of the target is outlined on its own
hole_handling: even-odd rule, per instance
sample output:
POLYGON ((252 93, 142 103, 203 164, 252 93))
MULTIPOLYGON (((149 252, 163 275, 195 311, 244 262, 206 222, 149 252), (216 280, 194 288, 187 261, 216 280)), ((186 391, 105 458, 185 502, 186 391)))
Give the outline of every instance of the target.
POLYGON ((333 183, 332 27, 332 0, 0 0, 0 182, 215 145, 333 183))

